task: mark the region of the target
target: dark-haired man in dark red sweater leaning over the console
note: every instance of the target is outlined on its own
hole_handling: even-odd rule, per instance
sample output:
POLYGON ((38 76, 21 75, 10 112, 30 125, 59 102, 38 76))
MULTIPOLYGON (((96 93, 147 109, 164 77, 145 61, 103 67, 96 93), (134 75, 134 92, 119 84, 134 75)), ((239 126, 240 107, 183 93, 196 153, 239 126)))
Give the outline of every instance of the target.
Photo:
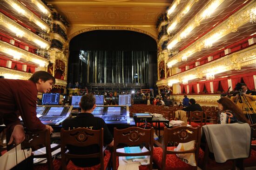
POLYGON ((36 117, 37 93, 49 92, 55 83, 55 78, 48 72, 39 71, 29 80, 0 78, 0 117, 7 126, 7 142, 20 144, 25 139, 21 116, 24 126, 29 131, 53 129, 41 123, 36 117))

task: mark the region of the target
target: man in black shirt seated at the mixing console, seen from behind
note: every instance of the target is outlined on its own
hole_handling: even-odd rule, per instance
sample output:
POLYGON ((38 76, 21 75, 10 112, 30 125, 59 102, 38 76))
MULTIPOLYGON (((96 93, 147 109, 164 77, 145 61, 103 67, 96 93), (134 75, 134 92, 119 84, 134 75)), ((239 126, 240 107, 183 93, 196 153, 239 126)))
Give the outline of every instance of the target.
MULTIPOLYGON (((80 101, 81 113, 75 118, 67 118, 62 123, 62 128, 65 130, 73 130, 75 128, 84 127, 91 130, 100 130, 103 128, 103 141, 104 144, 112 147, 114 144, 113 137, 108 130, 108 126, 102 118, 94 117, 95 97, 93 94, 86 94, 81 97, 80 101)), ((71 154, 90 154, 99 151, 98 145, 90 145, 87 147, 68 146, 67 148, 71 154)), ((100 163, 99 158, 84 158, 84 159, 71 159, 71 161, 80 167, 89 167, 100 163)))

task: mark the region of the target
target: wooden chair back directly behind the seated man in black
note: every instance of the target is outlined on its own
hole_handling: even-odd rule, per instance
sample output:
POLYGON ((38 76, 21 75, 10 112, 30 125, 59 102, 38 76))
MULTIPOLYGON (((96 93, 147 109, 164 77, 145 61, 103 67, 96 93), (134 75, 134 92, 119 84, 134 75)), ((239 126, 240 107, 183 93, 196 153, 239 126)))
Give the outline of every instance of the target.
POLYGON ((101 160, 101 170, 104 170, 104 150, 103 150, 103 128, 101 130, 90 130, 87 128, 76 128, 71 131, 61 129, 61 167, 67 170, 67 160, 71 158, 93 158, 99 157, 101 160), (70 154, 66 153, 67 145, 85 147, 89 145, 99 145, 99 152, 93 154, 70 154))

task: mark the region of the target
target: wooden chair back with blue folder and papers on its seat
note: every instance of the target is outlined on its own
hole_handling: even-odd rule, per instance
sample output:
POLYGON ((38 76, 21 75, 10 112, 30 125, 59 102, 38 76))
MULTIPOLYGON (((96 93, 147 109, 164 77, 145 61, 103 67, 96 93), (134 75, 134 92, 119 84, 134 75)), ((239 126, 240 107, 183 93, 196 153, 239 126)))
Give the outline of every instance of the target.
POLYGON ((113 148, 113 170, 116 170, 116 157, 128 156, 148 156, 150 155, 149 170, 152 170, 153 161, 153 145, 154 145, 154 129, 142 129, 139 127, 129 127, 117 130, 114 128, 114 148, 113 148), (123 153, 117 152, 116 149, 124 146, 141 146, 145 144, 147 152, 141 153, 123 153), (120 147, 121 146, 121 147, 120 147))

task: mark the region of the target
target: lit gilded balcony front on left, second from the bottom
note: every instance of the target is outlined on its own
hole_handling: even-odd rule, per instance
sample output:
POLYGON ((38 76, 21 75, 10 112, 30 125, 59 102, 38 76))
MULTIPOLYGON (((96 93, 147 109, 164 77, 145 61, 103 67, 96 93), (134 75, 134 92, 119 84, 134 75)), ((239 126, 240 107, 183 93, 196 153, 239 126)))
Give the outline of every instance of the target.
POLYGON ((34 65, 39 65, 41 67, 46 67, 49 64, 48 59, 23 50, 17 46, 13 46, 2 40, 0 40, 0 52, 5 53, 7 56, 9 56, 10 59, 16 59, 23 62, 25 61, 34 65))

